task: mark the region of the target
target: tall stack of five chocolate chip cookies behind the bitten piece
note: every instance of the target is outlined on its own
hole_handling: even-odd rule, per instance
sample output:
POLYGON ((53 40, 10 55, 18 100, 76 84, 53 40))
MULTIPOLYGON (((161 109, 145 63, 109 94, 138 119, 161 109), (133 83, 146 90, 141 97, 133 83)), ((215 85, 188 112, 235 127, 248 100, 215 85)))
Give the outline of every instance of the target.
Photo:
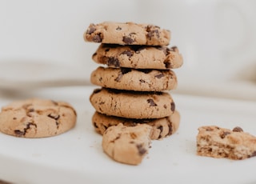
POLYGON ((91 74, 95 89, 90 102, 96 112, 92 122, 104 134, 110 126, 146 124, 150 139, 174 134, 179 114, 169 90, 177 87, 171 69, 182 66, 178 48, 168 47, 170 31, 133 22, 90 24, 84 39, 101 45, 93 54, 102 64, 91 74))

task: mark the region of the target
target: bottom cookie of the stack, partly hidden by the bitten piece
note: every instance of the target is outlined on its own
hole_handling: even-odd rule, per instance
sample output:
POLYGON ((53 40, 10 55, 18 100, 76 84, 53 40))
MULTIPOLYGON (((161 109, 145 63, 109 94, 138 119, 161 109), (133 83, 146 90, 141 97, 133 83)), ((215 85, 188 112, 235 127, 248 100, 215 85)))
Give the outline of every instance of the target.
POLYGON ((146 124, 152 126, 152 134, 150 138, 162 139, 174 134, 178 130, 180 122, 180 114, 177 110, 174 114, 165 118, 154 118, 154 119, 130 119, 130 118, 120 118, 115 116, 107 116, 105 114, 100 114, 95 112, 92 118, 92 122, 95 130, 99 134, 104 134, 106 129, 110 126, 116 126, 122 123, 124 126, 136 126, 138 124, 146 124))

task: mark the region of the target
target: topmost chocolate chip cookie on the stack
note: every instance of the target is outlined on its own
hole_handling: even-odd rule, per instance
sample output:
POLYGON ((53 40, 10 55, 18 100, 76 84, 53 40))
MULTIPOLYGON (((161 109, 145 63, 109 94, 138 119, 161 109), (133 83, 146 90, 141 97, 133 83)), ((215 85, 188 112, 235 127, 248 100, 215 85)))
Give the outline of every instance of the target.
POLYGON ((134 22, 102 22, 90 24, 83 38, 87 42, 102 42, 119 45, 167 46, 170 30, 150 24, 134 22))

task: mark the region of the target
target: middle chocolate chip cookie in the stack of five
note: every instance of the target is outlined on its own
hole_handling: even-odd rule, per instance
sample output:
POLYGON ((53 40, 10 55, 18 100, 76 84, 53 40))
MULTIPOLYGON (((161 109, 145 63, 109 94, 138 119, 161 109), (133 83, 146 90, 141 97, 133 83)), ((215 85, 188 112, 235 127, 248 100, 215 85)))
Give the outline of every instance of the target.
POLYGON ((90 82, 117 90, 162 91, 174 90, 177 87, 177 78, 172 70, 135 70, 99 66, 91 73, 90 82))

